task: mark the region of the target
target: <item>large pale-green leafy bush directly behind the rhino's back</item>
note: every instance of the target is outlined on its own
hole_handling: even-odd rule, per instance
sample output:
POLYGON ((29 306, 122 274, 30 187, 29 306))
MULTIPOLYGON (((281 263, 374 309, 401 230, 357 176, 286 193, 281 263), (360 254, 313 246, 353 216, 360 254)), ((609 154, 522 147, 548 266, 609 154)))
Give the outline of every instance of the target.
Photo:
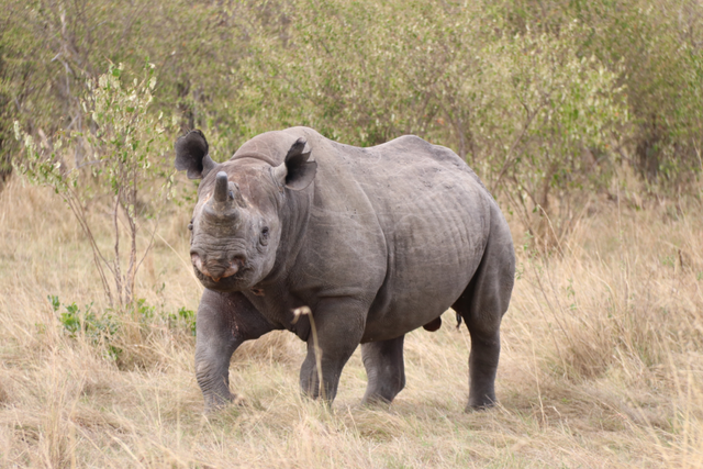
POLYGON ((286 47, 254 35, 244 101, 267 125, 308 124, 357 145, 414 133, 450 146, 539 243, 558 241, 609 186, 625 96, 617 70, 580 54, 578 22, 514 33, 503 13, 301 1, 286 47))

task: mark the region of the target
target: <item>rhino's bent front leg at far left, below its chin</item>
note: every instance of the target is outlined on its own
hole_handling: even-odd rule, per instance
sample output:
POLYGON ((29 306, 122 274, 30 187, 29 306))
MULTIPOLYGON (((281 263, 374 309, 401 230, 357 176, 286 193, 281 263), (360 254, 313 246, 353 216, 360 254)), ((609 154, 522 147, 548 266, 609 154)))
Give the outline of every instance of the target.
POLYGON ((212 411, 234 399, 230 359, 244 342, 271 331, 270 324, 242 293, 205 290, 196 321, 196 377, 212 411))

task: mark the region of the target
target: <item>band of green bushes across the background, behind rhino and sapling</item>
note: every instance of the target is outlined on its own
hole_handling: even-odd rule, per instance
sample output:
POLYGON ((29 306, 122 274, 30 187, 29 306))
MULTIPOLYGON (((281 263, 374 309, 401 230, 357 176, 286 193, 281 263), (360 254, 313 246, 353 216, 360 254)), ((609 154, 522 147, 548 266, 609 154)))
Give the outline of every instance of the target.
POLYGON ((215 158, 291 125, 362 146, 412 133, 466 158, 534 235, 544 214, 568 232, 617 168, 657 192, 703 166, 700 0, 0 3, 5 172, 13 120, 47 144, 94 132, 87 83, 146 60, 153 112, 202 129, 215 158))

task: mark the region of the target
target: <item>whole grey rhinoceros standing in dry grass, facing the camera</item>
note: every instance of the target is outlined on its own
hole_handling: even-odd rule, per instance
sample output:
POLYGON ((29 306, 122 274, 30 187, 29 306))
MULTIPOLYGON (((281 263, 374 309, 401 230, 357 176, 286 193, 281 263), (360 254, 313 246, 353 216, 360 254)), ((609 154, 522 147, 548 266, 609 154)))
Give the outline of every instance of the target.
POLYGON ((471 336, 467 410, 496 402, 513 242, 454 152, 413 135, 359 148, 309 127, 260 134, 221 164, 197 130, 175 149, 176 168, 202 179, 188 227, 205 287, 196 375, 207 410, 234 399, 234 350, 274 330, 308 344, 303 393, 332 402, 361 344, 362 403, 390 403, 405 386, 405 334, 438 328, 449 308, 471 336))

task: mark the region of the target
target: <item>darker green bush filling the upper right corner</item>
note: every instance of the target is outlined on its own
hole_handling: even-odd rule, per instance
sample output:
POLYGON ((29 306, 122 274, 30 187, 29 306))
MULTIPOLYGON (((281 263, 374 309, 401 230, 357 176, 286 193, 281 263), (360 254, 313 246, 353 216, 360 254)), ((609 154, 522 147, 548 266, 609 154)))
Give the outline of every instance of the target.
POLYGON ((684 189, 703 169, 703 11, 692 0, 518 0, 513 31, 528 25, 557 36, 579 21, 579 54, 594 55, 617 74, 632 125, 617 155, 650 190, 684 189))

